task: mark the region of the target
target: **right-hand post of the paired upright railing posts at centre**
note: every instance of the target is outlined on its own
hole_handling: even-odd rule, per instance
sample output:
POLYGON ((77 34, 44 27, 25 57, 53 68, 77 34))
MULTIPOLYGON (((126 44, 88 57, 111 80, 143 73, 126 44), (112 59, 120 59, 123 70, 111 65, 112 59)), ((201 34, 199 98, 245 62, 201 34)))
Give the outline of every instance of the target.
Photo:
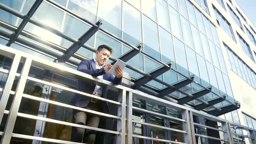
POLYGON ((132 144, 132 134, 134 131, 133 123, 132 123, 132 92, 126 93, 126 138, 125 142, 126 144, 132 144))

